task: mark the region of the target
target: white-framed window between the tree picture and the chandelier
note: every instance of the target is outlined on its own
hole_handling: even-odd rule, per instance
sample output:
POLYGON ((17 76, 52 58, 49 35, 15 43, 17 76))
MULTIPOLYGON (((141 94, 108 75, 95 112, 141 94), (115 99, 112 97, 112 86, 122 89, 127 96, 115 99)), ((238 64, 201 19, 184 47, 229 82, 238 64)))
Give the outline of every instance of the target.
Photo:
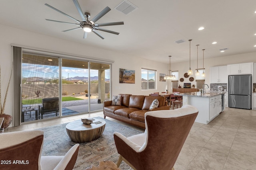
POLYGON ((156 89, 156 70, 141 68, 141 89, 156 89))

